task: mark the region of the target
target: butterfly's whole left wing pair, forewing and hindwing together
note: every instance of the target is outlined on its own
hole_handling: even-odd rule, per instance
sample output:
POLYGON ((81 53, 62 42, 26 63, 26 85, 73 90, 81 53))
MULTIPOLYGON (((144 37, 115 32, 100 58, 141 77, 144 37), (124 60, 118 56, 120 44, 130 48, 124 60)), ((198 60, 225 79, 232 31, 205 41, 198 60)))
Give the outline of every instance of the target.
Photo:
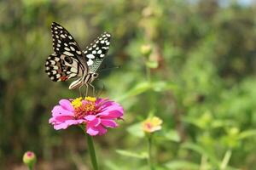
POLYGON ((88 73, 88 66, 78 43, 61 25, 51 25, 54 54, 45 63, 45 72, 52 81, 66 81, 88 73))

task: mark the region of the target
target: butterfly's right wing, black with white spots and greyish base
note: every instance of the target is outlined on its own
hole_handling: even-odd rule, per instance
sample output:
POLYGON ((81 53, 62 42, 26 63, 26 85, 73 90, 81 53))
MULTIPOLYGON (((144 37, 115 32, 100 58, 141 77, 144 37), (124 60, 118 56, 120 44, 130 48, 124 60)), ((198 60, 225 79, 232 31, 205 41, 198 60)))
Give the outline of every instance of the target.
POLYGON ((102 61, 108 53, 110 38, 111 35, 108 32, 104 32, 83 51, 90 72, 96 72, 102 65, 102 61))

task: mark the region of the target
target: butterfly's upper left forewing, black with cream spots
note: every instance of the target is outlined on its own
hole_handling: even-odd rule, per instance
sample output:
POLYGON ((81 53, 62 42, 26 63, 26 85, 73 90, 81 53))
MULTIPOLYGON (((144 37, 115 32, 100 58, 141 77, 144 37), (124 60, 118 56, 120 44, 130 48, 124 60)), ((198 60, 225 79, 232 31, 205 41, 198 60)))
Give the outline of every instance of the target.
POLYGON ((84 59, 84 54, 71 34, 63 26, 55 22, 51 25, 51 32, 55 54, 58 56, 67 55, 70 59, 75 59, 84 70, 84 74, 87 74, 88 66, 84 59))

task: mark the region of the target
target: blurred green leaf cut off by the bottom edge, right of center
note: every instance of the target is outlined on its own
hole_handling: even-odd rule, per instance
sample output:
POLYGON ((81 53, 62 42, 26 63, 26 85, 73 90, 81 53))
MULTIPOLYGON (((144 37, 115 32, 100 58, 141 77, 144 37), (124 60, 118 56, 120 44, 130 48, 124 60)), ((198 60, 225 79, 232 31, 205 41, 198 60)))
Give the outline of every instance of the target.
POLYGON ((172 170, 177 170, 177 169, 189 169, 189 170, 198 170, 200 169, 199 165, 191 162, 191 161, 180 161, 180 160, 175 160, 175 161, 169 161, 166 163, 166 167, 172 170))

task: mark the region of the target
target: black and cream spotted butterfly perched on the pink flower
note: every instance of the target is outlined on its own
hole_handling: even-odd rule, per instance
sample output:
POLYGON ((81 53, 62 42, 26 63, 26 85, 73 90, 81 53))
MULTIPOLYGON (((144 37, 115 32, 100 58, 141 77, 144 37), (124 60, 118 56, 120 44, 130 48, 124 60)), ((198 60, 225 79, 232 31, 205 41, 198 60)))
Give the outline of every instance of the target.
POLYGON ((98 77, 97 71, 108 53, 111 35, 104 32, 82 51, 63 26, 53 22, 51 33, 55 53, 50 54, 45 63, 49 78, 55 82, 65 82, 79 77, 70 84, 69 89, 92 86, 91 82, 98 77))

